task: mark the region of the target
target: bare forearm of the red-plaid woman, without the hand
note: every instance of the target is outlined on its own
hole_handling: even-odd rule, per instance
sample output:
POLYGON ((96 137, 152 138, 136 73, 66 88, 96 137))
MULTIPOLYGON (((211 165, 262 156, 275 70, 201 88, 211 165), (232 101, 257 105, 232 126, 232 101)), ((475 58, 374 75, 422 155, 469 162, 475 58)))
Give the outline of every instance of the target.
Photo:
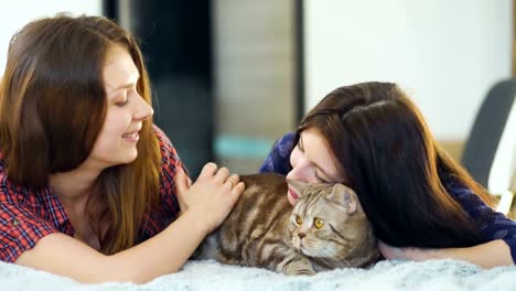
POLYGON ((69 236, 52 234, 25 250, 15 262, 80 282, 144 283, 183 266, 208 233, 207 227, 198 224, 197 216, 185 212, 154 237, 111 256, 69 236))

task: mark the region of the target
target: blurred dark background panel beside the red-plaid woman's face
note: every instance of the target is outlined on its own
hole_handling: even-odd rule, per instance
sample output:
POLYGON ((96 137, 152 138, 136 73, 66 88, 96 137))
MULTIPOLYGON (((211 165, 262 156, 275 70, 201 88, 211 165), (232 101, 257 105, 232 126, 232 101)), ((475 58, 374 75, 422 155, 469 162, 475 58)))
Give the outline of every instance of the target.
POLYGON ((153 85, 154 122, 196 175, 216 159, 212 1, 105 3, 105 14, 139 39, 153 85))

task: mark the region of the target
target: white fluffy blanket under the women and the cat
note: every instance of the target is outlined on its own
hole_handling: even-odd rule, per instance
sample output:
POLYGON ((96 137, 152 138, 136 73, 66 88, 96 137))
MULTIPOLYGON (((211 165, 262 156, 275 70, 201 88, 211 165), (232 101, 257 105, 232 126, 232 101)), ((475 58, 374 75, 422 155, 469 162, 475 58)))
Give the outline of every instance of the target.
POLYGON ((192 261, 175 274, 143 285, 82 284, 71 279, 0 262, 0 290, 516 290, 516 267, 483 270, 455 260, 380 261, 368 270, 341 269, 314 277, 192 261))

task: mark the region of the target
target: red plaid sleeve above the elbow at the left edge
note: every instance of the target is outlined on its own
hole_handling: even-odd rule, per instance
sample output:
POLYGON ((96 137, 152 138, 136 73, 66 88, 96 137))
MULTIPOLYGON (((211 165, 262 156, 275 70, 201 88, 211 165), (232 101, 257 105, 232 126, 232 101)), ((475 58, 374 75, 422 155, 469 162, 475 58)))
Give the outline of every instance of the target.
POLYGON ((37 240, 58 233, 49 222, 35 218, 22 205, 0 202, 0 260, 14 262, 23 251, 35 246, 37 240))

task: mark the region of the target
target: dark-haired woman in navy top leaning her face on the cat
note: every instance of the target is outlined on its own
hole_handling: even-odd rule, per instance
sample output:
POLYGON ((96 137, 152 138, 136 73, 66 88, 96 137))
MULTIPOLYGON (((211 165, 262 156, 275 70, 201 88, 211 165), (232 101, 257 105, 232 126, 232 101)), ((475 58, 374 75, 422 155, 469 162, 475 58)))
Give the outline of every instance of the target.
MULTIPOLYGON (((515 261, 516 223, 487 206, 486 191, 439 148, 395 84, 333 90, 275 144, 260 172, 354 188, 386 258, 515 261)), ((287 195, 295 204, 294 192, 287 195)))

